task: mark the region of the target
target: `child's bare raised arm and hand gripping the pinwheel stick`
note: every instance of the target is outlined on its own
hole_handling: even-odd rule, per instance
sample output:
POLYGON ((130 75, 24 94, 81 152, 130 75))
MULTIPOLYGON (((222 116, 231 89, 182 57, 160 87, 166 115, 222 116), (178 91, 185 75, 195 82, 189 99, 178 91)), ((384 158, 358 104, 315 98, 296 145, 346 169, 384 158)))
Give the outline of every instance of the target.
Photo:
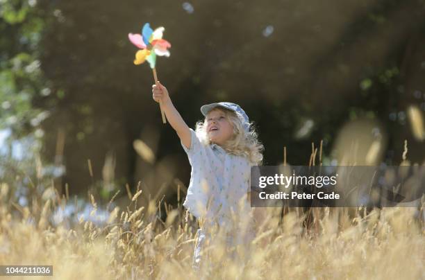
POLYGON ((169 124, 176 130, 178 137, 181 139, 182 143, 186 148, 190 149, 190 130, 188 125, 185 123, 180 113, 174 107, 171 98, 169 98, 168 90, 166 87, 161 85, 158 81, 158 86, 152 85, 152 96, 153 100, 159 102, 160 99, 163 100, 163 110, 169 124))

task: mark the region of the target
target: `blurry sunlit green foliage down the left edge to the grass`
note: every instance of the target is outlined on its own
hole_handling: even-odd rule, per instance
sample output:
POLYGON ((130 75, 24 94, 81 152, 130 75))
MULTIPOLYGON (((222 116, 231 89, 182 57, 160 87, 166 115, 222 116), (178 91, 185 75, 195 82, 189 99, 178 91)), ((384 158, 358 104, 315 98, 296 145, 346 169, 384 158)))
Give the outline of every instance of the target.
POLYGON ((47 24, 45 9, 36 0, 0 1, 0 181, 21 198, 40 195, 58 169, 42 166, 40 150, 49 116, 34 105, 51 94, 40 62, 40 41, 47 24))

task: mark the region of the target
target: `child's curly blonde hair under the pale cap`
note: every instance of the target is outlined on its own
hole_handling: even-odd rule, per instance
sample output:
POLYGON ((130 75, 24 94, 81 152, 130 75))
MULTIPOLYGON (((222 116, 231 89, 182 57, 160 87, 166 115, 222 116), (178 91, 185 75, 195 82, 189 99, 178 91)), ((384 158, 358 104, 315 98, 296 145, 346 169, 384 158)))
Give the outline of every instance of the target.
MULTIPOLYGON (((226 141, 222 148, 231 155, 247 157, 251 165, 263 164, 264 146, 258 140, 258 134, 253 128, 253 123, 249 123, 249 131, 247 132, 242 125, 242 116, 226 108, 215 107, 210 112, 213 110, 224 112, 226 119, 233 125, 233 137, 226 141)), ((195 125, 195 132, 205 146, 211 144, 206 131, 206 123, 207 118, 203 119, 203 121, 197 121, 195 125)))

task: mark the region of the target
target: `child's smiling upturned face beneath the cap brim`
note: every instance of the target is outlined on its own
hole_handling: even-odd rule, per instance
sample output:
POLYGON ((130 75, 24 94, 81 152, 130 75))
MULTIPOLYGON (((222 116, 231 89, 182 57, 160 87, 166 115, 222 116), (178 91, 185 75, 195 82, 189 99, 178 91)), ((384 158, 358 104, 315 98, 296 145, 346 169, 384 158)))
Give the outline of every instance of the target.
POLYGON ((207 133, 212 143, 222 146, 233 136, 233 125, 226 118, 226 114, 219 109, 213 109, 207 116, 207 133))

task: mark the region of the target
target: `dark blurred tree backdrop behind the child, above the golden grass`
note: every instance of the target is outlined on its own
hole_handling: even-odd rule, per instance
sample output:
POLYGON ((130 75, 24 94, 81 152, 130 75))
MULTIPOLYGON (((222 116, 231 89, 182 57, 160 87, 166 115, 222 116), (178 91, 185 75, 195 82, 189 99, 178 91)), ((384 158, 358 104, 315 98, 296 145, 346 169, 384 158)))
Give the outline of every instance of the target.
POLYGON ((365 133, 382 139, 385 163, 400 164, 405 139, 410 160, 424 161, 423 126, 415 134, 409 123, 411 108, 421 121, 425 111, 423 0, 3 0, 1 125, 42 141, 59 191, 66 182, 108 200, 140 180, 152 196, 160 186, 174 195, 176 178, 188 185, 151 70, 133 65, 127 34, 144 22, 165 26, 172 55, 158 60, 159 80, 188 125, 203 104, 240 104, 264 164, 281 164, 284 146, 290 164, 308 164, 322 139, 330 164, 338 132, 356 120, 371 121, 365 133))

